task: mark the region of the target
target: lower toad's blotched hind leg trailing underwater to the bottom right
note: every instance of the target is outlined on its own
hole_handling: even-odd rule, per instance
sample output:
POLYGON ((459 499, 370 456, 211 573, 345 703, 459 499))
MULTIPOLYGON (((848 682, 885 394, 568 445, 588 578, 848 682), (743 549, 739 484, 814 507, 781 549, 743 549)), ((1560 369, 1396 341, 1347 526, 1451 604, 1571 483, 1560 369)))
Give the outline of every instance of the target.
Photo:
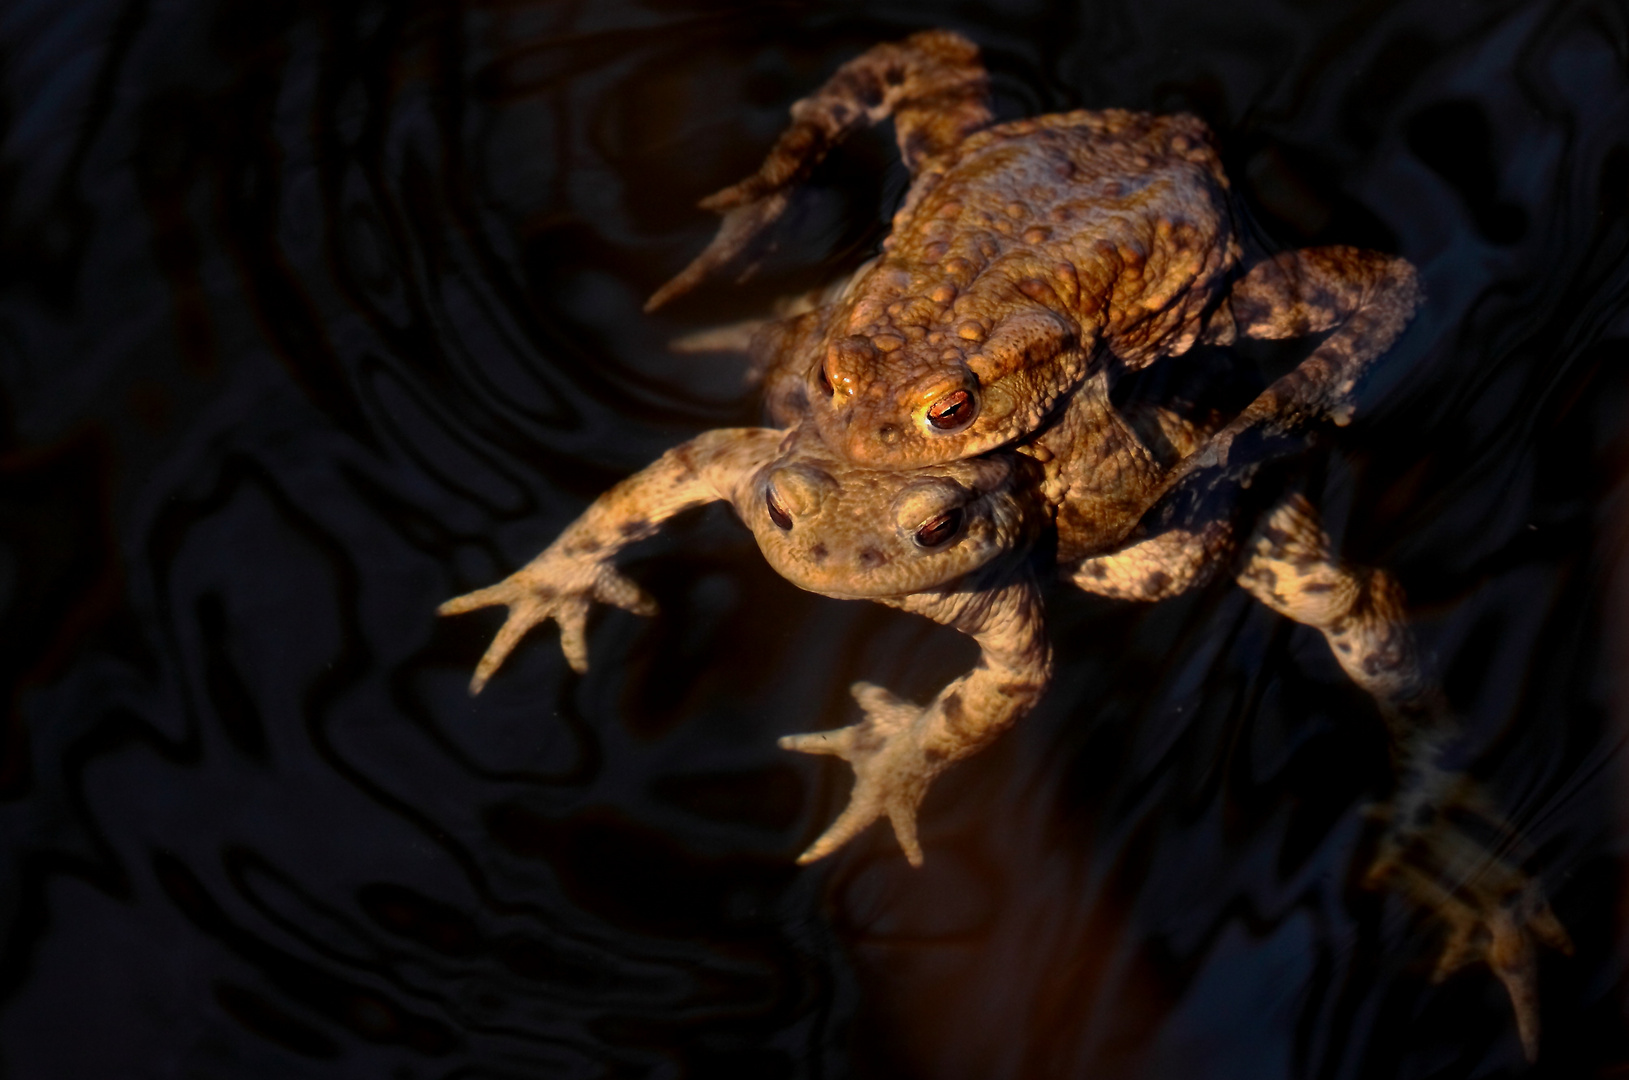
POLYGON ((1420 671, 1401 588, 1378 570, 1336 562, 1313 508, 1298 495, 1256 528, 1238 580, 1274 611, 1321 630, 1352 681, 1380 702, 1399 784, 1365 883, 1391 885, 1447 924, 1437 979, 1487 961, 1510 995, 1521 1047, 1533 1060, 1538 943, 1572 946, 1539 883, 1510 862, 1513 831, 1469 779, 1440 764, 1455 723, 1420 671), (1473 819, 1504 841, 1489 849, 1463 828, 1473 819))

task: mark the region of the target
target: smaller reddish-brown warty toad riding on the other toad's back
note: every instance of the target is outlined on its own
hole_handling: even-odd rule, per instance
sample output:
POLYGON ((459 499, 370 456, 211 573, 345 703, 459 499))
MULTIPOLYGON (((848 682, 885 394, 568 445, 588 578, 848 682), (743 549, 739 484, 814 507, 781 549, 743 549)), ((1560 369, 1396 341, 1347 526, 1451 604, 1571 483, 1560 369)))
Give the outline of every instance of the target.
POLYGON ((810 169, 891 117, 912 182, 883 252, 769 334, 772 397, 806 397, 834 451, 898 468, 1030 441, 1067 458, 1072 435, 1044 428, 1095 370, 1235 334, 1333 331, 1261 409, 1346 420, 1355 380, 1417 305, 1407 262, 1321 248, 1241 274, 1202 121, 1106 109, 992 124, 987 98, 977 47, 950 31, 844 64, 792 106, 756 174, 702 202, 723 213, 717 238, 647 310, 749 259, 810 169))

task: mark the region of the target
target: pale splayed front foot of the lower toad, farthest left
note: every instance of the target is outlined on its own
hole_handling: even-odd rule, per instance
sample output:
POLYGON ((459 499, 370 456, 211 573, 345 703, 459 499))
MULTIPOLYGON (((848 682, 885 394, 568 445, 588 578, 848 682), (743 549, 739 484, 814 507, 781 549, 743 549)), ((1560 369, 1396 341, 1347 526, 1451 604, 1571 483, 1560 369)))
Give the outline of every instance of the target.
POLYGON ((508 606, 508 617, 469 679, 469 692, 479 694, 520 639, 549 619, 560 624, 560 652, 565 653, 572 671, 578 674, 588 671, 588 611, 596 599, 639 616, 656 614, 656 601, 617 573, 611 564, 551 552, 544 552, 497 585, 454 596, 437 608, 437 614, 456 616, 494 604, 508 606))

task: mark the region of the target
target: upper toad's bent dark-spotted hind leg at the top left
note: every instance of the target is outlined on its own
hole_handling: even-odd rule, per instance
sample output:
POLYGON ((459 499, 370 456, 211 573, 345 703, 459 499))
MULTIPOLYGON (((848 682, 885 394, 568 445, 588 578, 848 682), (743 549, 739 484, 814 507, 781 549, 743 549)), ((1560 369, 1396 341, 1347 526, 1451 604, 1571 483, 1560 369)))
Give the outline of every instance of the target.
MULTIPOLYGON (((979 47, 948 29, 911 34, 899 42, 873 46, 839 67, 818 91, 793 103, 792 125, 780 134, 764 165, 738 184, 702 199, 704 210, 723 215, 718 235, 652 293, 645 311, 691 292, 709 274, 741 257, 785 213, 797 186, 832 147, 888 117, 894 121, 899 156, 912 176, 929 158, 989 125, 994 114, 979 47)), ((751 270, 749 264, 743 277, 751 270)))

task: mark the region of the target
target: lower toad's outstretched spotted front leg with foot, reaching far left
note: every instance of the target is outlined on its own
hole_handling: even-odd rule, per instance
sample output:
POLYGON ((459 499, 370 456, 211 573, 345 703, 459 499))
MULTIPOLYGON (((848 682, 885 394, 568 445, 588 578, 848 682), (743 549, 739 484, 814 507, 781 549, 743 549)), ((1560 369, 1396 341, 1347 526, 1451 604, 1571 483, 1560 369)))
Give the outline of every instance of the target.
POLYGON ((560 624, 560 650, 572 670, 583 673, 588 670, 585 632, 593 601, 642 616, 656 614, 656 601, 619 573, 611 559, 624 546, 652 536, 676 513, 730 498, 741 477, 774 458, 782 437, 784 432, 769 428, 723 428, 674 446, 596 498, 525 567, 497 585, 441 604, 438 612, 443 616, 508 606, 503 627, 476 666, 469 692, 479 694, 520 639, 539 622, 560 624))

